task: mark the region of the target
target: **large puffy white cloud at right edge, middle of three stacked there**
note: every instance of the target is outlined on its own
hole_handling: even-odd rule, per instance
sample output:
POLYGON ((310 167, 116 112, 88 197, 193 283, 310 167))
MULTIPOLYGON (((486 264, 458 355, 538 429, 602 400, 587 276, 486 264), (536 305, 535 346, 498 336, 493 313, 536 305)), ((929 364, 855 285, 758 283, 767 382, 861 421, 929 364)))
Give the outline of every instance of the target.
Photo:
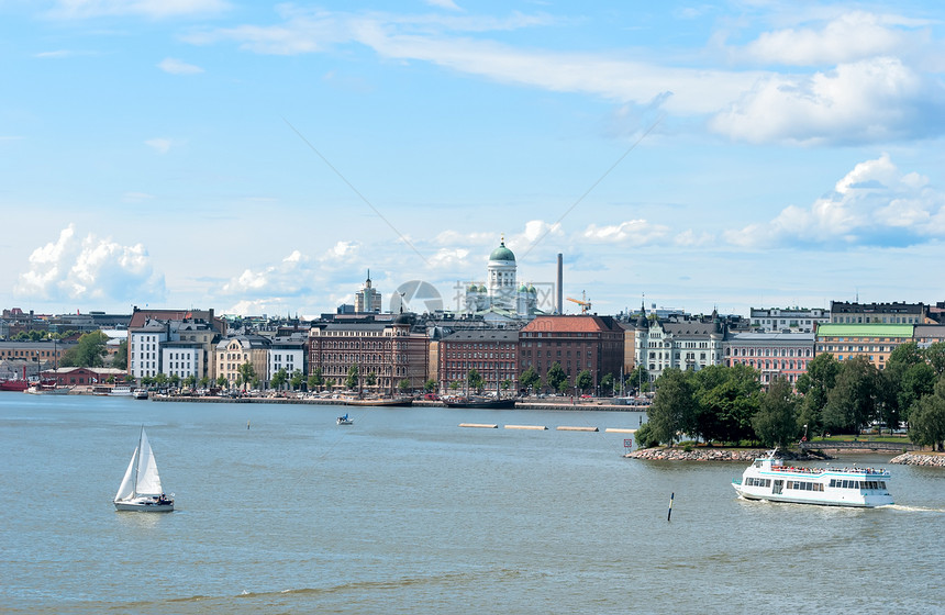
POLYGON ((759 80, 710 122, 748 143, 856 144, 942 134, 945 88, 897 58, 759 80))

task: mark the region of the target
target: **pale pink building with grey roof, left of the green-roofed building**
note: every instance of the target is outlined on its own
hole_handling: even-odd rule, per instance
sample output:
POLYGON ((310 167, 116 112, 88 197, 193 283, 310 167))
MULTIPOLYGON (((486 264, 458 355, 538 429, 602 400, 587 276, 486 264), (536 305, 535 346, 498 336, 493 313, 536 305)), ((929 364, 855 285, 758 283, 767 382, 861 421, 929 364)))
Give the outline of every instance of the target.
POLYGON ((793 384, 814 358, 814 334, 730 333, 722 353, 726 367, 742 364, 756 369, 765 387, 778 376, 793 384))

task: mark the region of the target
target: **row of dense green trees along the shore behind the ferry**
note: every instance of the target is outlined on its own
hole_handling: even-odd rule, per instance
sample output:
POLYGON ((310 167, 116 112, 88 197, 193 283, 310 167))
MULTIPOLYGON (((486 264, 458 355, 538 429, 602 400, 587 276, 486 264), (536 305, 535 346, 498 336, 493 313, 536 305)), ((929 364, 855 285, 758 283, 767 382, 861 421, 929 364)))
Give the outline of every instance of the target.
POLYGON ((682 437, 786 446, 808 435, 901 425, 914 444, 945 445, 945 343, 903 344, 882 370, 866 357, 819 355, 796 388, 777 377, 765 390, 745 365, 667 369, 655 385, 648 422, 636 436, 643 447, 682 437))

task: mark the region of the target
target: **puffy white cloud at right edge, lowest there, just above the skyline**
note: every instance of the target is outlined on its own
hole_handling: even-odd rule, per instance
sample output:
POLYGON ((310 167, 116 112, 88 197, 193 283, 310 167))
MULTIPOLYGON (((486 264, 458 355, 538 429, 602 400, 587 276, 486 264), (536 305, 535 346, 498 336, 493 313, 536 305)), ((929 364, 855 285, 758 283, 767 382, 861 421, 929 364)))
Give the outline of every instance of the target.
POLYGON ((768 223, 726 233, 742 247, 791 244, 907 246, 945 238, 945 193, 903 174, 883 154, 859 163, 808 208, 791 205, 768 223))

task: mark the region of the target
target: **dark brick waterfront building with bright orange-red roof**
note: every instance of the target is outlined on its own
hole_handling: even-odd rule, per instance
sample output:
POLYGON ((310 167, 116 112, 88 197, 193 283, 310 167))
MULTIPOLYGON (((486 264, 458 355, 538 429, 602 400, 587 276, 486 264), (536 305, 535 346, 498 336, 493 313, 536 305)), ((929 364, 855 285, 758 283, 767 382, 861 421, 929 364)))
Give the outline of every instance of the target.
POLYGON ((546 385, 548 369, 557 362, 569 385, 588 370, 597 390, 604 374, 620 378, 623 345, 624 329, 611 316, 538 315, 519 335, 519 376, 531 367, 546 385))

